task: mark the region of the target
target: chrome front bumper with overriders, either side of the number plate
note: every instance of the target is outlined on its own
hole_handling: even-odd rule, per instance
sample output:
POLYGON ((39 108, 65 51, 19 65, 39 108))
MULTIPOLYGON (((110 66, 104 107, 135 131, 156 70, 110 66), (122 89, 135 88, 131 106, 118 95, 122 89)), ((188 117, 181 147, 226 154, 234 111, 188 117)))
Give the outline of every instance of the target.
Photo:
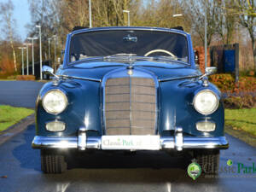
MULTIPOLYGON (((36 136, 32 148, 89 148, 102 149, 102 137, 86 137, 84 129, 79 130, 79 137, 42 137, 36 136), (85 142, 86 141, 86 142, 85 142)), ((177 128, 174 137, 160 137, 161 149, 183 148, 229 148, 226 137, 183 137, 183 129, 177 128)))

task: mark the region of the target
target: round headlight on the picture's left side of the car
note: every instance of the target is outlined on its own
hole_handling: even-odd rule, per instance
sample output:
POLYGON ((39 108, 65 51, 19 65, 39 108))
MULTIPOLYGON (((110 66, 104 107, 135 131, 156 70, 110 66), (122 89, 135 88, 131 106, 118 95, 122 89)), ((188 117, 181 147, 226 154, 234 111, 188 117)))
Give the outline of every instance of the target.
POLYGON ((67 107, 67 96, 61 90, 49 90, 43 98, 45 111, 58 114, 67 107))

